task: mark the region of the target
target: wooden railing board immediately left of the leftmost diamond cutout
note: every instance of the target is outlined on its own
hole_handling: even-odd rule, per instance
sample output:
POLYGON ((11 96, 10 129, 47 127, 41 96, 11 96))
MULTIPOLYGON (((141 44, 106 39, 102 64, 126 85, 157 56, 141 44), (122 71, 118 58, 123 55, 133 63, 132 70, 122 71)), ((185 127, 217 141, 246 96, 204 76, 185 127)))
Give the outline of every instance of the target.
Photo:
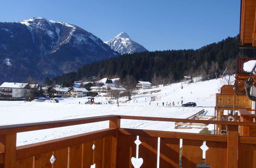
POLYGON ((52 163, 50 162, 51 157, 52 157, 52 152, 36 155, 35 168, 52 168, 52 163))

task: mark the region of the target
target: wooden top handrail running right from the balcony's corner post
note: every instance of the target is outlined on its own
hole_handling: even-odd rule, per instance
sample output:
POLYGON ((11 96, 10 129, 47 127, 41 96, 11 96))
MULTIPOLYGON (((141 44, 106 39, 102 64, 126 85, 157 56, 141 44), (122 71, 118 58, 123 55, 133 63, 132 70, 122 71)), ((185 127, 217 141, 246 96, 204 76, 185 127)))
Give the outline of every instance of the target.
POLYGON ((233 121, 215 121, 215 120, 191 120, 191 119, 176 119, 176 118, 161 118, 161 117, 141 117, 141 116, 119 116, 121 119, 130 120, 151 120, 151 121, 169 121, 183 123, 203 123, 203 124, 219 124, 219 125, 242 125, 256 126, 256 123, 251 122, 233 122, 233 121))

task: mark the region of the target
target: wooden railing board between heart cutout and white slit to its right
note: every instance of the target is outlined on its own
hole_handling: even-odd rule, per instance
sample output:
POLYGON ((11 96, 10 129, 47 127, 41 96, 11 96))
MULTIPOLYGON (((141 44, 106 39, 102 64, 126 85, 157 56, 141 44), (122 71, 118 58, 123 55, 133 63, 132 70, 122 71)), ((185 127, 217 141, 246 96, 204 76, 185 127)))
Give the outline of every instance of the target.
POLYGON ((143 158, 141 168, 157 166, 157 137, 140 136, 139 158, 143 158))

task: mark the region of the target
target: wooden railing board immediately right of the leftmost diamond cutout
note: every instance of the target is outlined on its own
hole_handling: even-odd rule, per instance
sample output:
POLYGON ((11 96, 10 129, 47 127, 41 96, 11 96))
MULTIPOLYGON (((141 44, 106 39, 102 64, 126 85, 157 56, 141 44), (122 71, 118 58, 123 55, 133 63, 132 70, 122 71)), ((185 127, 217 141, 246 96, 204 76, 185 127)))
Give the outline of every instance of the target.
POLYGON ((53 167, 54 168, 66 168, 68 167, 68 155, 69 148, 59 149, 53 152, 54 157, 56 158, 53 167))

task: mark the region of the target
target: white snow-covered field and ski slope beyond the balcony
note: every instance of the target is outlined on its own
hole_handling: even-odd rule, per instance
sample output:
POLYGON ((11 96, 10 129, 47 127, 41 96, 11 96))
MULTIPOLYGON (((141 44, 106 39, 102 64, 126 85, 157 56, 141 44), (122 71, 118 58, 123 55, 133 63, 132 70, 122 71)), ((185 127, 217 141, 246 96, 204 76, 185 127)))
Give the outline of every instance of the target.
MULTIPOLYGON (((158 88, 139 90, 130 102, 105 104, 109 101, 105 97, 96 97, 95 102, 102 104, 84 104, 88 101, 83 98, 60 98, 59 103, 0 101, 0 125, 33 123, 54 120, 67 120, 103 115, 127 115, 167 118, 187 118, 205 109, 205 115, 214 116, 215 93, 219 93, 223 85, 222 79, 213 79, 203 82, 187 84, 173 83, 158 88), (156 96, 156 101, 151 101, 156 96), (182 107, 183 103, 196 102, 197 107, 182 107), (80 103, 79 103, 80 102, 80 103), (173 106, 175 102, 175 106, 173 106), (178 104, 179 102, 179 104, 178 104), (164 103, 164 105, 162 105, 164 103), (172 105, 166 105, 171 103, 172 105)), ((124 102, 127 97, 120 98, 124 102)), ((90 123, 78 126, 61 127, 40 131, 22 132, 17 134, 17 146, 47 141, 64 136, 90 132, 108 128, 108 122, 90 123)), ((174 129, 174 123, 137 120, 121 120, 123 128, 155 129, 165 131, 199 132, 201 129, 174 129)), ((214 126, 209 125, 209 130, 214 126)))

